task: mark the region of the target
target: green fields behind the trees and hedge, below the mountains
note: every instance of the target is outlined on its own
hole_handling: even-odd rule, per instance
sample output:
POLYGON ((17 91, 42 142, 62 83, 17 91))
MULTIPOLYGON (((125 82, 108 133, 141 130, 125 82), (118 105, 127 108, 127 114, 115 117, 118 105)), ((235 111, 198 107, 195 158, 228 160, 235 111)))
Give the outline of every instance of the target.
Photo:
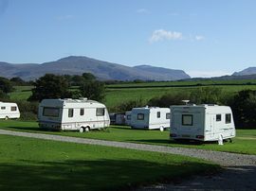
MULTIPOLYGON (((106 96, 103 103, 108 108, 113 108, 126 101, 138 99, 141 99, 142 102, 146 104, 147 101, 153 97, 159 97, 166 94, 188 93, 199 87, 219 87, 228 93, 239 92, 245 89, 256 90, 256 79, 113 84, 106 86, 106 96)), ((9 94, 10 99, 14 101, 26 100, 31 96, 31 89, 32 86, 15 86, 15 91, 9 94)), ((74 88, 72 88, 72 90, 74 90, 74 88)))

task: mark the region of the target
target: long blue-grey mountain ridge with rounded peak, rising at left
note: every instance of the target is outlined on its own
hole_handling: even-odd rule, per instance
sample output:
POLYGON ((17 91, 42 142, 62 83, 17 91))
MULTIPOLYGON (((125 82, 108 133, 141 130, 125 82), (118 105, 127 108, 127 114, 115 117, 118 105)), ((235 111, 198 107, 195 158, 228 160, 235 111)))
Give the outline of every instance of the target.
POLYGON ((20 77, 25 80, 40 78, 46 73, 82 75, 84 72, 92 73, 100 79, 116 80, 176 80, 191 78, 182 70, 172 70, 149 65, 129 67, 118 63, 77 56, 70 56, 58 61, 49 61, 41 64, 0 62, 0 68, 1 77, 20 77))

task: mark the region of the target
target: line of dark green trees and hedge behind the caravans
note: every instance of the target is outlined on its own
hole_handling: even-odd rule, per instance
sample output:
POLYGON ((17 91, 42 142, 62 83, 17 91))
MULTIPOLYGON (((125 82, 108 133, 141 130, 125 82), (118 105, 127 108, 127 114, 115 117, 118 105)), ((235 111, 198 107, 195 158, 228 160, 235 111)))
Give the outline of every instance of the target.
MULTIPOLYGON (((8 100, 8 94, 13 91, 14 85, 33 85, 32 95, 27 101, 18 101, 22 116, 35 119, 38 101, 44 98, 79 98, 87 97, 102 101, 105 96, 104 82, 97 80, 90 73, 82 76, 58 76, 46 74, 31 82, 21 78, 0 78, 0 100, 8 100), (77 86, 72 89, 72 86, 77 86)), ((111 112, 126 112, 134 107, 145 105, 155 107, 170 107, 184 104, 181 100, 189 99, 194 104, 218 104, 231 107, 235 125, 239 128, 256 129, 256 91, 243 90, 237 93, 227 93, 218 87, 199 87, 190 91, 183 91, 154 97, 150 100, 131 100, 111 108, 111 112)))

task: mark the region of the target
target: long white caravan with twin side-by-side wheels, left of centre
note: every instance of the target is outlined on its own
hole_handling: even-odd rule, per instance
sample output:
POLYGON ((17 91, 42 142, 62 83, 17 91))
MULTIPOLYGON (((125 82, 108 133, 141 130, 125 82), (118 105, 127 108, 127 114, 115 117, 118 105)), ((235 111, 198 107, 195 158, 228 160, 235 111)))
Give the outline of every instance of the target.
POLYGON ((44 99, 39 105, 38 121, 40 128, 81 132, 110 124, 106 107, 86 98, 44 99))

